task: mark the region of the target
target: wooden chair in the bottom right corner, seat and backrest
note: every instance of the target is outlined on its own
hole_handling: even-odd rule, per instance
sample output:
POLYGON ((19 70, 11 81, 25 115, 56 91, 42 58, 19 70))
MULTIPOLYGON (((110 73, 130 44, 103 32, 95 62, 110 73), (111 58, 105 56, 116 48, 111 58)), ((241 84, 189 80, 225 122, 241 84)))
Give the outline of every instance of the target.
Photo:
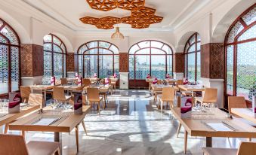
POLYGON ((204 155, 254 155, 256 142, 241 142, 238 149, 202 147, 204 155))

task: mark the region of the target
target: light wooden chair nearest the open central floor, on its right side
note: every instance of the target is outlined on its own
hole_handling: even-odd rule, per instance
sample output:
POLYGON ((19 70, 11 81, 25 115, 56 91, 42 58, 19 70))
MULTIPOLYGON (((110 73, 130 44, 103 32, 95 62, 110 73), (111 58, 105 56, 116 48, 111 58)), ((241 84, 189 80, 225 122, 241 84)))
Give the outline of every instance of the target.
MULTIPOLYGON (((175 90, 173 87, 162 88, 162 95, 159 96, 159 103, 162 112, 162 104, 165 102, 166 105, 170 104, 170 108, 174 108, 175 90)), ((166 106, 165 105, 165 106, 166 106)))

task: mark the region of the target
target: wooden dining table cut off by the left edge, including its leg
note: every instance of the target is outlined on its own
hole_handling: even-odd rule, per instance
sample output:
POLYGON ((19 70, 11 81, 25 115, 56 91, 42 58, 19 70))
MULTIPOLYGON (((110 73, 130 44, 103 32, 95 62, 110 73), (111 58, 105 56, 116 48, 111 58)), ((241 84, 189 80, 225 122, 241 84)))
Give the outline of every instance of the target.
POLYGON ((14 114, 0 113, 0 126, 5 125, 5 133, 7 132, 9 123, 12 123, 14 120, 17 120, 20 117, 25 116, 33 111, 36 111, 40 108, 40 105, 25 105, 20 108, 20 112, 14 114))

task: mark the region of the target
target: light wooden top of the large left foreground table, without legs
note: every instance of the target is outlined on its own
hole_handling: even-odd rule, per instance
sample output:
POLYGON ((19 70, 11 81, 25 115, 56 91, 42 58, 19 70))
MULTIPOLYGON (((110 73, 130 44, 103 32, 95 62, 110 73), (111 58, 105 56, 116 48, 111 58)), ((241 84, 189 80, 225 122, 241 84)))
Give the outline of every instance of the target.
POLYGON ((52 114, 49 111, 44 111, 43 114, 38 114, 34 112, 26 117, 22 117, 19 120, 11 123, 9 126, 10 130, 21 130, 21 131, 39 131, 39 132, 71 132, 82 120, 85 115, 90 111, 90 106, 83 106, 83 114, 76 115, 74 111, 67 112, 66 114, 52 114), (49 126, 33 125, 37 119, 44 117, 63 117, 56 123, 49 126))

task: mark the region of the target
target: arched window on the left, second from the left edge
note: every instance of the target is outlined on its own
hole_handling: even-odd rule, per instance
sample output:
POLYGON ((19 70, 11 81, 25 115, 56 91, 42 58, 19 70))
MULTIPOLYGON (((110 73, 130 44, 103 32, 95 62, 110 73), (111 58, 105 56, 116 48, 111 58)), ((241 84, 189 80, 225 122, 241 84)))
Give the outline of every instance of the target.
POLYGON ((51 82, 52 76, 66 77, 66 46, 60 38, 50 34, 44 37, 44 82, 51 82))

